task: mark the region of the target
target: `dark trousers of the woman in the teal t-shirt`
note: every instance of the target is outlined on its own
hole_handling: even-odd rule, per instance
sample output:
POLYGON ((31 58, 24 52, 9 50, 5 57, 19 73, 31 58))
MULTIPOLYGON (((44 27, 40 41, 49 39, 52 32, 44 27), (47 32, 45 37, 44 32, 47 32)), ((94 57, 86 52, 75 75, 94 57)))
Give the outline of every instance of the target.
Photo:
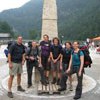
POLYGON ((81 96, 82 95, 83 71, 82 71, 81 76, 78 75, 78 72, 79 72, 79 68, 76 67, 76 68, 71 68, 71 72, 69 74, 64 73, 61 77, 60 86, 61 86, 61 88, 66 88, 67 87, 66 82, 67 82, 67 79, 68 79, 68 75, 72 75, 72 74, 76 73, 78 84, 77 84, 77 87, 76 87, 75 95, 81 96))

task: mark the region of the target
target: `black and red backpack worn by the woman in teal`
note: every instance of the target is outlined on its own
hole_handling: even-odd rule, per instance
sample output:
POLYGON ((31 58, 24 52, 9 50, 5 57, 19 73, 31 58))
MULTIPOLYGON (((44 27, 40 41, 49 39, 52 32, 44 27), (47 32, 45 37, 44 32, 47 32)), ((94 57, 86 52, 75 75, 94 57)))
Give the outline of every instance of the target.
POLYGON ((84 68, 87 68, 87 67, 91 68, 92 59, 90 57, 88 48, 86 46, 80 47, 80 50, 78 52, 79 57, 80 57, 80 51, 84 53, 84 68))

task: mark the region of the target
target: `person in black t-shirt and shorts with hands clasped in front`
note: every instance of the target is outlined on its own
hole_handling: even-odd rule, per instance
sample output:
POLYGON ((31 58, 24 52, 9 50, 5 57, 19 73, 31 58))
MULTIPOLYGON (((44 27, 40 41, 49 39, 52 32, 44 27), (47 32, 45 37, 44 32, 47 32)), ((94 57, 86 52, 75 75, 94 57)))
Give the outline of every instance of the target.
POLYGON ((62 50, 62 46, 59 43, 59 39, 57 37, 53 38, 53 45, 51 46, 51 50, 50 50, 51 69, 53 72, 52 84, 57 83, 57 85, 59 85, 60 77, 61 77, 61 71, 60 71, 61 50, 62 50), (58 77, 56 77, 56 74, 58 77))

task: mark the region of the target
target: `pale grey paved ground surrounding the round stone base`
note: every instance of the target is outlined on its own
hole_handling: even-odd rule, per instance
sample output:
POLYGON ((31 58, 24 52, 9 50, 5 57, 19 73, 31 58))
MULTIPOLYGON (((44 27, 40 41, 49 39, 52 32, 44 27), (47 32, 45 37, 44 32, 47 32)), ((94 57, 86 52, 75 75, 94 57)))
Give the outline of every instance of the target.
MULTIPOLYGON (((96 81, 96 87, 88 91, 86 93, 83 93, 82 98, 80 100, 100 100, 100 55, 96 54, 95 51, 91 51, 91 56, 93 58, 93 65, 91 69, 86 69, 86 75, 92 77, 96 81)), ((2 80, 5 79, 6 76, 8 76, 8 66, 6 64, 6 59, 0 58, 0 62, 2 61, 2 64, 0 64, 0 100, 73 100, 72 96, 66 97, 66 96, 36 96, 36 98, 33 97, 27 97, 24 95, 17 95, 14 94, 13 99, 9 99, 7 97, 7 91, 4 89, 2 80)), ((93 83, 91 82, 90 85, 93 83)), ((35 91, 34 91, 35 92, 35 91)), ((34 93, 33 93, 34 94, 34 93)), ((27 95, 27 94, 26 94, 27 95)), ((67 95, 67 94, 66 94, 67 95)))

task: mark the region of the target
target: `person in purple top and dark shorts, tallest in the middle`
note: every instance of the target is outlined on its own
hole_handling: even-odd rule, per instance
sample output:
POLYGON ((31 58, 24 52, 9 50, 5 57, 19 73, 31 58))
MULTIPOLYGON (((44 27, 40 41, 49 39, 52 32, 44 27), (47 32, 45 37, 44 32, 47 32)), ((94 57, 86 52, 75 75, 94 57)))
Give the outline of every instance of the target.
POLYGON ((43 36, 43 41, 40 42, 41 48, 41 63, 44 68, 44 75, 46 81, 49 84, 49 72, 50 72, 50 46, 49 36, 45 34, 43 36))

